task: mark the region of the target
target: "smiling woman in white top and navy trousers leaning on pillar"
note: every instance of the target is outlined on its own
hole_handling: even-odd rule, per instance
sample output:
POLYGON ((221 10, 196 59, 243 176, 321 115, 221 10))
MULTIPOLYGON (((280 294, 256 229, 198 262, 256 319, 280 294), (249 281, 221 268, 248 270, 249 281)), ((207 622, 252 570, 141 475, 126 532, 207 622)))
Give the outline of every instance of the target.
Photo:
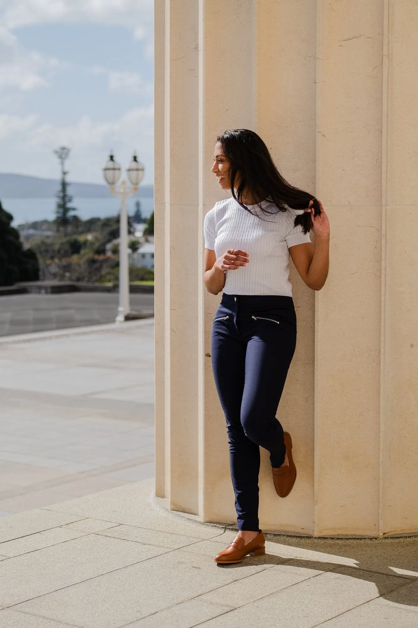
POLYGON ((205 217, 205 285, 223 290, 212 329, 212 365, 227 421, 238 535, 217 563, 264 554, 259 529, 260 446, 270 453, 274 488, 286 497, 296 479, 292 440, 276 419, 296 345, 289 254, 309 288, 328 275, 330 225, 313 195, 292 187, 259 136, 218 136, 212 172, 232 198, 205 217), (309 230, 315 235, 311 244, 309 230))

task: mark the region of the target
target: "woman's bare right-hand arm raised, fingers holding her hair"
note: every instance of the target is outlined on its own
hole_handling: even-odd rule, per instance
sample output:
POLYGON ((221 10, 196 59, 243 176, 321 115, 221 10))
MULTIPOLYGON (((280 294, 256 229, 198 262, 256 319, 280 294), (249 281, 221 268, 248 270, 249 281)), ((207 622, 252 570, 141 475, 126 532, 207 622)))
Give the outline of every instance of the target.
POLYGON ((315 234, 315 247, 310 242, 296 244, 289 248, 292 261, 303 281, 312 290, 321 290, 328 276, 330 265, 330 223, 321 203, 321 214, 314 217, 311 203, 306 212, 311 213, 311 223, 315 234))

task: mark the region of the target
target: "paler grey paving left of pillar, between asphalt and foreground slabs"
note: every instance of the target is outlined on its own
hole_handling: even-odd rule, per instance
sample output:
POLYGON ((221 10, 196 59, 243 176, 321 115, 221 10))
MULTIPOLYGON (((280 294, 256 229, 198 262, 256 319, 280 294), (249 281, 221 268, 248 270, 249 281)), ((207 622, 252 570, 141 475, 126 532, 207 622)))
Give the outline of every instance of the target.
POLYGON ((0 338, 0 516, 154 475, 153 330, 0 338))

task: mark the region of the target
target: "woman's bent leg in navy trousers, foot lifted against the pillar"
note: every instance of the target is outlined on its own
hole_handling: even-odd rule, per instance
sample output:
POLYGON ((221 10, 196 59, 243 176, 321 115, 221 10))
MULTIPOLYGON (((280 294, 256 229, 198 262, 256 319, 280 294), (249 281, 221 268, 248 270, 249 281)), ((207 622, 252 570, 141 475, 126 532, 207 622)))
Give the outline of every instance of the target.
POLYGON ((261 325, 247 345, 241 423, 250 440, 270 452, 272 467, 281 467, 286 447, 276 412, 296 346, 296 330, 283 330, 276 323, 261 325))

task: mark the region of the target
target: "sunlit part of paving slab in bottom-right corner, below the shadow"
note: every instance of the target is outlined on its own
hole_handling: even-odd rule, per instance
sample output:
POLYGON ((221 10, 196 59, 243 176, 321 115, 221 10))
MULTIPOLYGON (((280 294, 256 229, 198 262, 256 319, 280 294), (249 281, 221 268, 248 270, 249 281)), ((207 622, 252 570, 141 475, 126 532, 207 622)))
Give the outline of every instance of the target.
POLYGON ((319 625, 323 628, 417 628, 418 613, 378 598, 319 625))

